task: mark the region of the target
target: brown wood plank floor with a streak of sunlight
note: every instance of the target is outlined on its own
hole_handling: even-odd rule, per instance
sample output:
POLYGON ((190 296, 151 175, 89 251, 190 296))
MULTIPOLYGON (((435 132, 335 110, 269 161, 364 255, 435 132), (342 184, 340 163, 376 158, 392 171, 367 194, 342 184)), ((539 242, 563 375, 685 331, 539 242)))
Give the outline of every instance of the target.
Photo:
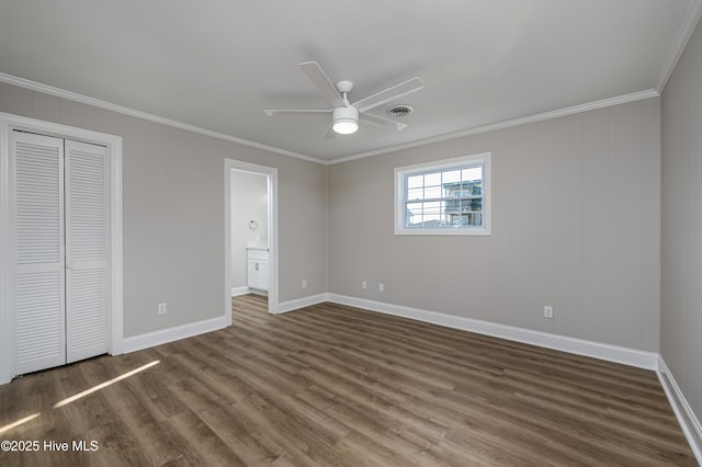
POLYGON ((0 386, 0 430, 41 413, 0 433, 39 452, 0 465, 697 465, 653 372, 333 304, 233 304, 228 329, 0 386), (44 446, 81 440, 98 449, 44 446))

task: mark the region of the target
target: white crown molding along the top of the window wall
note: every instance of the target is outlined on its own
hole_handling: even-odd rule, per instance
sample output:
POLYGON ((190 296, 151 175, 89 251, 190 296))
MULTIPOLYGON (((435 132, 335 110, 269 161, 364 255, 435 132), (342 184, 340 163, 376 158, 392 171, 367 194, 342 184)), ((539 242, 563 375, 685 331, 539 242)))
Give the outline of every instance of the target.
MULTIPOLYGON (((702 1, 702 0, 700 0, 702 1)), ((525 125, 528 123, 542 122, 551 118, 557 118, 566 115, 573 115, 581 112, 595 111, 598 109, 610 107, 612 105, 626 104, 629 102, 641 101, 644 99, 657 98, 660 94, 654 90, 648 89, 646 91, 632 92, 631 94, 619 95, 615 98, 602 99, 601 101, 588 102, 585 104, 573 105, 570 107, 558 109, 555 111, 543 112, 540 114, 528 115, 524 117, 507 119, 503 122, 497 122, 489 125, 476 126, 473 128, 462 129, 458 132, 446 133, 444 135, 432 136, 429 138, 418 139, 411 143, 407 143, 404 145, 389 146, 382 149, 376 149, 367 152, 361 152, 358 155, 333 159, 327 162, 327 164, 331 166, 335 163, 349 162, 356 159, 364 159, 366 157, 380 156, 387 152, 395 152, 404 149, 416 148, 419 146, 431 145, 434 143, 449 141, 456 138, 462 138, 465 136, 478 135, 480 133, 495 132, 498 129, 510 128, 512 126, 525 125)))

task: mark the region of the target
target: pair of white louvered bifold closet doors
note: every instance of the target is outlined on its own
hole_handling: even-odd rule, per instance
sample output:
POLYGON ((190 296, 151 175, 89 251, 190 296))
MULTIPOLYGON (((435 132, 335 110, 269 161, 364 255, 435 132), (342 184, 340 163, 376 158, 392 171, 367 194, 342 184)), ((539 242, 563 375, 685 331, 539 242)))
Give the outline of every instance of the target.
POLYGON ((13 130, 14 374, 106 353, 104 146, 13 130))

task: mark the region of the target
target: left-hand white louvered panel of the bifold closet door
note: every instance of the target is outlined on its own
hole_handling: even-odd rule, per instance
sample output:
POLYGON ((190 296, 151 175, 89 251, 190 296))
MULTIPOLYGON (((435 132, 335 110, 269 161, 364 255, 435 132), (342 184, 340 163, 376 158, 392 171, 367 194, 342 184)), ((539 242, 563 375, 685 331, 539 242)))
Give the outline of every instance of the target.
POLYGON ((64 140, 12 132, 15 374, 66 363, 64 140))

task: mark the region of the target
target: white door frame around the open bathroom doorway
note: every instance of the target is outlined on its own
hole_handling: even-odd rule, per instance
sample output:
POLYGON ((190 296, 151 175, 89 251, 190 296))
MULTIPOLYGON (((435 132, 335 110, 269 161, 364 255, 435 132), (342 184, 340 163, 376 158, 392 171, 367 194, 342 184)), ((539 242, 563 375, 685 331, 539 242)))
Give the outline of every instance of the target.
POLYGON ((269 249, 269 288, 268 312, 273 315, 279 309, 278 293, 278 169, 259 166, 236 159, 224 160, 224 217, 225 217, 225 316, 227 324, 231 324, 231 171, 258 173, 268 180, 268 249, 269 249))

